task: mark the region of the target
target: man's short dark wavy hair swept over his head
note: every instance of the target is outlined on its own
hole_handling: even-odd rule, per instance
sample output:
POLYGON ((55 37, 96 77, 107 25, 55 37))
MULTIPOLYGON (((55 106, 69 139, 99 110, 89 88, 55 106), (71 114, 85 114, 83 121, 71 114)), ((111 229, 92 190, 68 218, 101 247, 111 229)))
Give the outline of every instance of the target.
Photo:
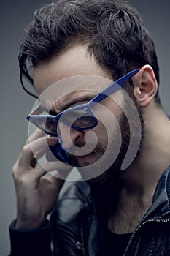
MULTIPOLYGON (((126 1, 58 0, 36 10, 26 28, 19 55, 22 84, 23 77, 33 84, 30 66, 49 61, 76 43, 88 43, 90 53, 112 78, 150 64, 159 83, 155 45, 134 7, 126 1)), ((155 100, 160 103, 158 93, 155 100)))

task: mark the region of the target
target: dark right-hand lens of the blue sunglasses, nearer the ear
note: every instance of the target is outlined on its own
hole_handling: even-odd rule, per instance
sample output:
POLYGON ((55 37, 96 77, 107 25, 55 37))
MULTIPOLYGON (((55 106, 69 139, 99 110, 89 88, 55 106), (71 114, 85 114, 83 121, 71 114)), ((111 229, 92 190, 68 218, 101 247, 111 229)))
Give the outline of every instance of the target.
POLYGON ((62 118, 68 122, 71 126, 74 125, 77 128, 88 128, 93 127, 95 124, 95 119, 90 116, 85 110, 75 110, 69 113, 64 113, 62 118))

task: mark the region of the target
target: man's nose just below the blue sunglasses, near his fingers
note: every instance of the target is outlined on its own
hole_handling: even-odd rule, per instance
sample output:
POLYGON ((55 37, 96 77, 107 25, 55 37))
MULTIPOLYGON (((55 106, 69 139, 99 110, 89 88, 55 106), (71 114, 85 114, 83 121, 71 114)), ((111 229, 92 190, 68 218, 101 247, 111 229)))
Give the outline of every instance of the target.
POLYGON ((62 122, 58 123, 59 132, 64 148, 72 148, 72 145, 83 145, 85 143, 85 132, 73 129, 62 122))

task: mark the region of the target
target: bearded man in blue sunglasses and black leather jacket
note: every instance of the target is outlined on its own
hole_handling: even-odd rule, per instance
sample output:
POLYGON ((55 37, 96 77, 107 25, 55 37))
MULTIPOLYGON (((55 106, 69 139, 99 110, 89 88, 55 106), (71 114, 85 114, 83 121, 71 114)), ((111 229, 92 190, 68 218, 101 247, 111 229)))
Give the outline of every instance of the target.
POLYGON ((48 116, 38 108, 28 117, 40 129, 13 167, 11 255, 169 255, 170 122, 138 12, 123 1, 47 4, 19 61, 48 116), (48 146, 59 160, 41 164, 48 146), (74 166, 82 181, 58 199, 74 166))

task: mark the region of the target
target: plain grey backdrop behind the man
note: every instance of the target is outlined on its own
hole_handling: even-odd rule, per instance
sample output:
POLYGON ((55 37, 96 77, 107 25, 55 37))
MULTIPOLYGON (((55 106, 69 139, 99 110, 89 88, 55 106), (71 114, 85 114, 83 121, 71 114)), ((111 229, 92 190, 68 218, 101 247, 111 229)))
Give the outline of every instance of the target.
MULTIPOLYGON (((47 2, 50 1, 9 0, 1 4, 0 256, 9 253, 8 228, 9 223, 16 217, 16 197, 11 169, 28 136, 26 115, 34 103, 34 99, 21 89, 19 82, 19 42, 23 39, 23 29, 32 20, 35 8, 47 2)), ((129 2, 137 7, 155 40, 161 69, 161 99, 166 112, 170 114, 170 1, 129 0, 129 2)))

